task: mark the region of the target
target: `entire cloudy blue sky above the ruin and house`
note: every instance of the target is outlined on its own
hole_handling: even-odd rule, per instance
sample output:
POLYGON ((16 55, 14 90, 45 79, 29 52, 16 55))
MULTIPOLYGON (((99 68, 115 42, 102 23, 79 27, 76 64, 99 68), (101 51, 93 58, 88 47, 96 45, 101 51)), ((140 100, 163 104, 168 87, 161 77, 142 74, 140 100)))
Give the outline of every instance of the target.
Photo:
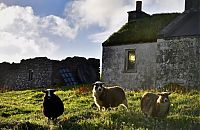
MULTIPOLYGON (((0 62, 46 56, 101 58, 135 0, 0 0, 0 62)), ((184 0, 143 0, 149 14, 183 12, 184 0)))

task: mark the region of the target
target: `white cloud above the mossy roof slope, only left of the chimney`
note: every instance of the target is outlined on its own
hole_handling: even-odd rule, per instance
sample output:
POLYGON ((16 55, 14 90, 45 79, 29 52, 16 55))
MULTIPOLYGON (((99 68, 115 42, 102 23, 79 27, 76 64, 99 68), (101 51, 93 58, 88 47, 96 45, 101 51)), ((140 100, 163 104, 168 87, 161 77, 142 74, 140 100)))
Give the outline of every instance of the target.
POLYGON ((78 0, 65 11, 80 28, 91 25, 103 28, 103 32, 89 36, 93 42, 103 42, 127 22, 127 11, 131 8, 127 0, 78 0))

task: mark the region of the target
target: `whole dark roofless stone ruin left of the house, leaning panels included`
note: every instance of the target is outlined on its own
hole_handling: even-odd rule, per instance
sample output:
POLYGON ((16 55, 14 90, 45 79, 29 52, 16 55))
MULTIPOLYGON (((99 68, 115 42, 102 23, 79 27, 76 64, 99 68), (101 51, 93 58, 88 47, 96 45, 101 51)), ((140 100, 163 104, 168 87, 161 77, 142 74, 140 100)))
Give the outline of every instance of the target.
POLYGON ((90 84, 99 80, 100 60, 68 57, 62 61, 46 57, 0 63, 0 89, 25 89, 55 85, 90 84))

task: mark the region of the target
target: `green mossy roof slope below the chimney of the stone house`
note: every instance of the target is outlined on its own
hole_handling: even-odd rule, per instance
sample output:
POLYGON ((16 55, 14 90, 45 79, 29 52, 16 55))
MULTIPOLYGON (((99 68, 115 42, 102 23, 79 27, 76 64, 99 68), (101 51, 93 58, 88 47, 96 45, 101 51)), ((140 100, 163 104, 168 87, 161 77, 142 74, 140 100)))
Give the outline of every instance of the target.
POLYGON ((156 42, 158 33, 178 15, 179 13, 154 14, 128 22, 112 34, 103 46, 156 42))

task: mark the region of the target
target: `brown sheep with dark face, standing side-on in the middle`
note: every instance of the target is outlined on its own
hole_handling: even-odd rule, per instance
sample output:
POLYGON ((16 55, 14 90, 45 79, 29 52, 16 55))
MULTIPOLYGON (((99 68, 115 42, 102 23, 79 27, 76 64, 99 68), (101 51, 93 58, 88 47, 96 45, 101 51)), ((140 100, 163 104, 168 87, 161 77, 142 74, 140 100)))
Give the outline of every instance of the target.
POLYGON ((101 81, 95 82, 93 85, 94 102, 99 110, 102 108, 117 107, 123 104, 128 108, 128 101, 125 92, 120 87, 104 87, 101 81))

